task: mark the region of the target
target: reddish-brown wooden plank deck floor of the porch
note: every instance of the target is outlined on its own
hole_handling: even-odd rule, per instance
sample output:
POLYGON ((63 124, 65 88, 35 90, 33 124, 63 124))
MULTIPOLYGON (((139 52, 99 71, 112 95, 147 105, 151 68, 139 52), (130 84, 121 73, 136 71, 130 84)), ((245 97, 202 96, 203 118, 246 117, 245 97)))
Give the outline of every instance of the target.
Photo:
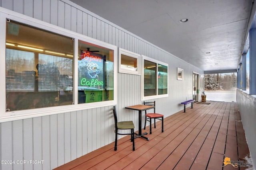
MULTIPOLYGON (((208 101, 207 101, 208 102, 208 101)), ((164 119, 164 132, 160 121, 152 129, 150 138, 135 139, 135 151, 129 137, 90 152, 64 164, 56 170, 244 170, 224 166, 223 160, 244 161, 249 154, 240 113, 236 102, 210 102, 193 104, 164 119), (224 166, 224 167, 222 167, 224 166)), ((149 127, 145 131, 149 133, 149 127)), ((142 130, 144 132, 144 129, 142 130)))

